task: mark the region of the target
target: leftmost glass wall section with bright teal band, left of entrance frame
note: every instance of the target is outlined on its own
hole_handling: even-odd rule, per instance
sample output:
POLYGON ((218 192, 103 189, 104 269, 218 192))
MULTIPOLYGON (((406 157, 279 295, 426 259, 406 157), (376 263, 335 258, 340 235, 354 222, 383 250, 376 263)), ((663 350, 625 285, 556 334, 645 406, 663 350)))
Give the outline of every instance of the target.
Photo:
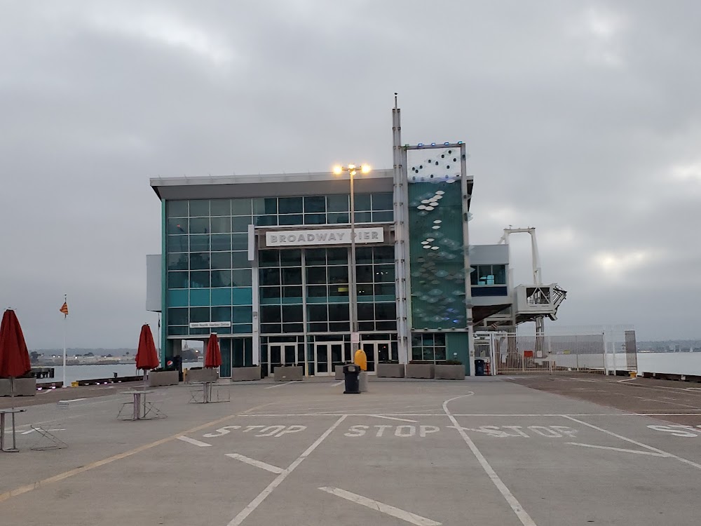
POLYGON ((211 328, 190 326, 207 322, 231 323, 216 328, 222 335, 253 332, 250 201, 166 203, 168 335, 208 335, 211 328))

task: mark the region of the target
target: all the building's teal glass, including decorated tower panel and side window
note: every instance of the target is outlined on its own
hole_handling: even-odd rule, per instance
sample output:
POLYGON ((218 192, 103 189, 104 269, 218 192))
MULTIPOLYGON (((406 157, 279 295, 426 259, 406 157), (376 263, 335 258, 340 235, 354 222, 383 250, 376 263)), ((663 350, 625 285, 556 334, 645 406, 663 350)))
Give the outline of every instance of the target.
MULTIPOLYGON (((165 335, 177 342, 219 333, 222 377, 253 363, 264 376, 280 365, 333 374, 358 348, 371 372, 376 364, 405 359, 466 361, 468 335, 459 332, 468 327, 460 181, 410 177, 407 188, 408 350, 397 338, 401 276, 390 228, 384 244, 357 246, 355 269, 348 246, 257 248, 248 259, 251 225, 257 236, 266 228, 349 227, 348 194, 165 201, 165 335), (351 344, 350 334, 353 271, 360 344, 351 344)), ((354 219, 363 226, 391 224, 393 194, 355 194, 354 219)), ((484 295, 501 294, 505 265, 479 265, 470 278, 477 295, 482 288, 484 295)))

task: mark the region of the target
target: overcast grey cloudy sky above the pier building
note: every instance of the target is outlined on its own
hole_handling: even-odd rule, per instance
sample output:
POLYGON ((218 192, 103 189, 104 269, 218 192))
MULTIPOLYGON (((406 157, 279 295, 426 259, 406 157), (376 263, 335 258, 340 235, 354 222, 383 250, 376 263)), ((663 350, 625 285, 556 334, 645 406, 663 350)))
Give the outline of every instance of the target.
MULTIPOLYGON (((473 243, 535 226, 560 323, 701 337, 697 1, 0 1, 1 306, 136 346, 158 175, 464 140, 473 243)), ((527 238, 513 239, 517 281, 527 238)))

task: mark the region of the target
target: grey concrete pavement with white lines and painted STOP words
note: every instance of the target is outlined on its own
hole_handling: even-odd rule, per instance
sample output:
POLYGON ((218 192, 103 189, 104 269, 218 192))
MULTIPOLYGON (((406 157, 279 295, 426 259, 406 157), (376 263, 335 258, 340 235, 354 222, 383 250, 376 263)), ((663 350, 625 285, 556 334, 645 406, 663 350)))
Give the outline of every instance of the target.
MULTIPOLYGON (((1 454, 8 524, 658 525, 695 522, 701 429, 498 379, 163 390, 168 418, 116 420, 128 397, 27 408, 64 450, 1 454), (51 424, 51 422, 47 422, 51 424), (698 429, 698 433, 693 431, 698 429)), ((691 412, 692 410, 689 410, 691 412)))

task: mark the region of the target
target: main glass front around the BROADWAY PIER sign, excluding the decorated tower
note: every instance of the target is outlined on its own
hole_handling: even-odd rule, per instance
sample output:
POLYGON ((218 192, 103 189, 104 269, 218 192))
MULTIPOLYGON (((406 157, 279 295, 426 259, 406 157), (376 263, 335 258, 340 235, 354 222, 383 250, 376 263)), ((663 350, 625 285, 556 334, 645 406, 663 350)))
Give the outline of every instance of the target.
MULTIPOLYGON (((392 194, 356 194, 355 209, 358 224, 392 222, 392 194)), ((166 201, 166 334, 231 335, 220 339, 222 376, 229 376, 231 367, 251 365, 254 323, 259 323, 261 362, 304 362, 324 338, 339 340, 348 358, 350 248, 259 250, 257 262, 249 261, 247 248, 250 224, 336 226, 349 220, 348 194, 166 201), (197 326, 213 323, 230 325, 197 326)), ((381 339, 396 340, 390 335, 397 330, 393 245, 360 246, 356 258, 360 330, 383 331, 381 339)), ((329 349, 335 362, 338 346, 329 349)))

